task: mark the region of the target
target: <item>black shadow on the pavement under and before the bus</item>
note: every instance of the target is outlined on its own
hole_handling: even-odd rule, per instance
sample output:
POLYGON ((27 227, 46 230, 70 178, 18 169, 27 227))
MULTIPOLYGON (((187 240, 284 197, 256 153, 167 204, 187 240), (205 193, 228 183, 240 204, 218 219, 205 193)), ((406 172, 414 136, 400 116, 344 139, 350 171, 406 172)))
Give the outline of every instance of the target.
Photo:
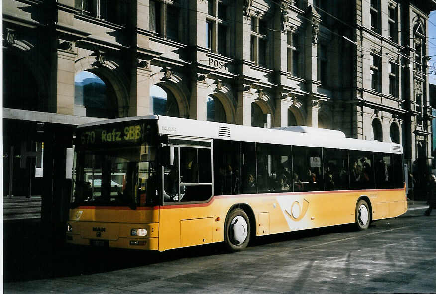
MULTIPOLYGON (((400 218, 424 217, 422 213, 414 211, 400 218)), ((371 227, 377 229, 378 224, 378 221, 372 223, 371 227)), ((250 243, 250 247, 332 233, 353 234, 354 231, 354 225, 349 224, 282 233, 258 237, 250 243)), ((40 220, 4 222, 4 282, 89 275, 187 257, 227 253, 222 243, 155 252, 67 246, 62 238, 58 238, 57 241, 53 239, 44 232, 40 220)))

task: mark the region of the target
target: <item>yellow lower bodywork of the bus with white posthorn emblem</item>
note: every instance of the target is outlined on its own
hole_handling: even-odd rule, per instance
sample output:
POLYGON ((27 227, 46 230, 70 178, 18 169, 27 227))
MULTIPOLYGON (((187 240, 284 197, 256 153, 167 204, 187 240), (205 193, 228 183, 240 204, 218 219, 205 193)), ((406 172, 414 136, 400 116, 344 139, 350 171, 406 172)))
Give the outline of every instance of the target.
POLYGON ((137 210, 78 207, 70 210, 72 232, 67 233, 67 242, 89 245, 90 240, 101 239, 108 240, 110 247, 159 251, 221 242, 233 207, 245 209, 250 222, 254 220, 251 228, 256 236, 348 224, 355 222, 361 197, 369 199, 372 220, 407 211, 404 189, 214 196, 207 203, 137 210), (131 236, 134 228, 145 228, 147 236, 131 236), (132 240, 146 242, 131 245, 132 240))

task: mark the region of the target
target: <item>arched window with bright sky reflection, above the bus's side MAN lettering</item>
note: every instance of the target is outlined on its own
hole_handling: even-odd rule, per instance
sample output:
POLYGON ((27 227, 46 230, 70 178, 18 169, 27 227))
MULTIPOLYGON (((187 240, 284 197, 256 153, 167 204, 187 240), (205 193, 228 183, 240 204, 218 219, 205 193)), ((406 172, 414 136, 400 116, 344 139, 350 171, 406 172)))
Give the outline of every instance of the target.
POLYGON ((176 97, 170 90, 158 85, 150 87, 150 106, 154 115, 179 117, 179 106, 176 97))

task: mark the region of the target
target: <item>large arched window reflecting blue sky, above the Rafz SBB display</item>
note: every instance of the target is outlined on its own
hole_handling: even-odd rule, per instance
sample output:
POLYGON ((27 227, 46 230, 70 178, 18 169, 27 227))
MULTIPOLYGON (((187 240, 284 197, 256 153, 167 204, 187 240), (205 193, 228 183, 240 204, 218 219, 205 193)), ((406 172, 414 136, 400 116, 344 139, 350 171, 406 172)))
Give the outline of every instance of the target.
POLYGON ((74 114, 78 116, 117 118, 118 103, 110 83, 89 71, 74 76, 74 114))

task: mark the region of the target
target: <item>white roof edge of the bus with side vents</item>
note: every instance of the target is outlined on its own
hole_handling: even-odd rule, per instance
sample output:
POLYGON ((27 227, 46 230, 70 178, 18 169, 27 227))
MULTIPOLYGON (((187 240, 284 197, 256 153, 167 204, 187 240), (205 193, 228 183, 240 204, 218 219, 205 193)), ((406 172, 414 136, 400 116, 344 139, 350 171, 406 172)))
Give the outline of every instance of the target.
POLYGON ((104 120, 80 125, 78 128, 116 122, 157 119, 159 134, 194 138, 223 139, 282 145, 324 147, 373 151, 384 153, 403 153, 403 147, 397 143, 345 138, 341 131, 307 126, 258 128, 235 124, 216 123, 168 116, 138 116, 104 120))

